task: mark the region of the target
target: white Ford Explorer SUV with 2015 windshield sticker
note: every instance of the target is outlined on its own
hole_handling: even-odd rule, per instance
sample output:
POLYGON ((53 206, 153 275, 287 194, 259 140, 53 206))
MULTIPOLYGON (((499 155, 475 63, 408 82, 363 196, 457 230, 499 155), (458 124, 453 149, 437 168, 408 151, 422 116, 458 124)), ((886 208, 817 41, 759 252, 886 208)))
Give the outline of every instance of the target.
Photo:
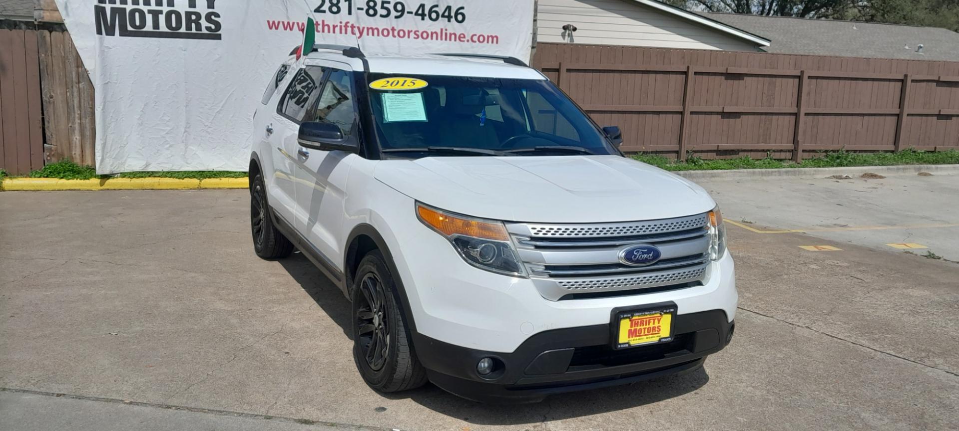
POLYGON ((254 122, 256 254, 295 246, 352 301, 376 390, 539 400, 692 371, 733 336, 713 199, 520 60, 317 45, 254 122))

